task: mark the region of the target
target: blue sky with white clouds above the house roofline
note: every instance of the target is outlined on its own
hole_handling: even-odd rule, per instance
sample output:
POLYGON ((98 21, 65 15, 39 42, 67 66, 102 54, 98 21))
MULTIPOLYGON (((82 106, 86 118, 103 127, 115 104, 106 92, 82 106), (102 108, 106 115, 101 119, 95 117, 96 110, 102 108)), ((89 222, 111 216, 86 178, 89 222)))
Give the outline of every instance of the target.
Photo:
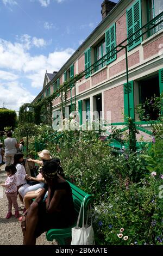
POLYGON ((0 107, 34 99, 45 71, 58 71, 101 22, 102 2, 0 0, 0 107))

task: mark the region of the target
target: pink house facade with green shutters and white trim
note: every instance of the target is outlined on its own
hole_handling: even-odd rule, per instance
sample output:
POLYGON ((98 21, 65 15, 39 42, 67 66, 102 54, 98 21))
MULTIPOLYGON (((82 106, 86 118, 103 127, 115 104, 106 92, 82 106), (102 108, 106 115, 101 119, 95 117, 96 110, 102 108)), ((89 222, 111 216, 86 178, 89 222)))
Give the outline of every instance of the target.
MULTIPOLYGON (((80 114, 86 111, 90 120, 94 111, 103 119, 110 112, 111 123, 120 123, 128 116, 129 93, 130 117, 138 121, 135 106, 154 94, 159 96, 163 90, 163 1, 121 0, 115 5, 105 0, 102 17, 34 101, 52 94, 64 81, 86 70, 82 80, 68 90, 67 106, 76 104, 80 114)), ((58 94, 53 100, 54 118, 60 108, 58 94)))

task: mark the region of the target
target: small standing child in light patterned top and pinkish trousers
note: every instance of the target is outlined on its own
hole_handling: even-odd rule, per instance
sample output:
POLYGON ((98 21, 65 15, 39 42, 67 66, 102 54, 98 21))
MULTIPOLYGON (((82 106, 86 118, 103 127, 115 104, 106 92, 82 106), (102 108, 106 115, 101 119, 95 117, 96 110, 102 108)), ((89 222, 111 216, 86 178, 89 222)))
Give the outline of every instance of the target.
POLYGON ((7 180, 5 181, 5 193, 8 199, 8 214, 6 218, 11 218, 12 216, 12 204, 15 208, 15 218, 19 217, 18 204, 17 204, 17 178, 16 178, 16 168, 14 164, 8 164, 5 167, 7 172, 7 180))

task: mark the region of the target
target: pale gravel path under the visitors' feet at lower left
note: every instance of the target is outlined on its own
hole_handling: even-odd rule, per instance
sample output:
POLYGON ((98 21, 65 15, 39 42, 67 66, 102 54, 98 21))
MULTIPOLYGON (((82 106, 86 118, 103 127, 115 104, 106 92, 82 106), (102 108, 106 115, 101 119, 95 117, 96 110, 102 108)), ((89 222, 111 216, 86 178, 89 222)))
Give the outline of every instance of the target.
MULTIPOLYGON (((4 171, 4 166, 0 167, 0 184, 4 183, 6 179, 6 173, 4 171)), ((18 197, 17 197, 18 198, 18 197)), ((20 200, 18 199, 18 204, 20 205, 20 200)), ((14 216, 8 220, 5 218, 8 212, 8 200, 5 196, 5 188, 0 186, 0 245, 22 245, 23 235, 21 231, 21 222, 18 221, 14 216)), ((12 209, 12 214, 14 214, 14 209, 12 209)), ((20 211, 22 214, 22 211, 20 211)), ((57 243, 48 242, 46 240, 46 233, 43 233, 38 237, 36 245, 56 245, 57 243)))

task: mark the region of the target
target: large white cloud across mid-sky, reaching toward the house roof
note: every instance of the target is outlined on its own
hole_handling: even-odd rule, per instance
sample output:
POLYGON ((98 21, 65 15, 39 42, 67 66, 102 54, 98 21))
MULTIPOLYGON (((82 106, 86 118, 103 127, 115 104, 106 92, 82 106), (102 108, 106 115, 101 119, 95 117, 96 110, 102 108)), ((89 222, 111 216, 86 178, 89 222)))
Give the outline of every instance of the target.
MULTIPOLYGON (((12 74, 21 74, 22 77, 31 80, 31 86, 35 88, 42 89, 43 79, 45 76, 45 71, 49 73, 53 71, 58 71, 62 65, 71 57, 74 50, 72 48, 67 48, 65 50, 55 50, 49 53, 48 56, 35 55, 31 56, 28 51, 28 36, 24 44, 15 43, 12 44, 9 41, 0 39, 0 69, 10 72, 12 74)), ((42 41, 38 42, 38 45, 42 44, 42 41)), ((2 75, 5 75, 4 73, 2 75)), ((6 74, 7 75, 7 74, 6 74)), ((14 79, 14 76, 11 76, 14 79)), ((16 78, 16 76, 15 76, 16 78)))

